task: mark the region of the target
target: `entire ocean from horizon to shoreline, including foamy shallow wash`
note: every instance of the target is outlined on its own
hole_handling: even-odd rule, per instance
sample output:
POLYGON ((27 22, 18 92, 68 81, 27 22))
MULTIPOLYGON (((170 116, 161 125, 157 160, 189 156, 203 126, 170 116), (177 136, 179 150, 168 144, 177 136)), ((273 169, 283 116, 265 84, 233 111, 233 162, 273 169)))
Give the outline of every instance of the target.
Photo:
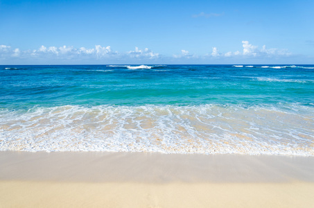
POLYGON ((314 65, 0 66, 0 150, 314 156, 314 65))

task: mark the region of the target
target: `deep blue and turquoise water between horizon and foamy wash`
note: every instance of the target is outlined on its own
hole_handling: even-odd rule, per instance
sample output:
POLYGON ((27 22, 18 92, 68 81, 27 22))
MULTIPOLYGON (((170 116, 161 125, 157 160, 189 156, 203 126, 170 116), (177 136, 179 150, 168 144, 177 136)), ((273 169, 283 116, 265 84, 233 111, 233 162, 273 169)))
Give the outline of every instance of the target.
POLYGON ((261 67, 3 66, 0 105, 314 103, 313 66, 261 67))

